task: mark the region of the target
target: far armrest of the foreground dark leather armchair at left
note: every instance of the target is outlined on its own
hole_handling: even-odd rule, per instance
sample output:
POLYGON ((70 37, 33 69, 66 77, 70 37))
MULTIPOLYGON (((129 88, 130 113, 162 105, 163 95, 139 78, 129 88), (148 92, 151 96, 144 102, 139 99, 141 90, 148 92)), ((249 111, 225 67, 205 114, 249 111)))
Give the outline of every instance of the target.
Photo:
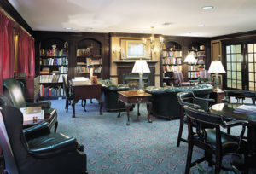
POLYGON ((33 137, 44 136, 50 133, 48 122, 43 121, 38 125, 33 125, 26 129, 23 129, 23 133, 26 136, 26 139, 29 140, 33 137))

